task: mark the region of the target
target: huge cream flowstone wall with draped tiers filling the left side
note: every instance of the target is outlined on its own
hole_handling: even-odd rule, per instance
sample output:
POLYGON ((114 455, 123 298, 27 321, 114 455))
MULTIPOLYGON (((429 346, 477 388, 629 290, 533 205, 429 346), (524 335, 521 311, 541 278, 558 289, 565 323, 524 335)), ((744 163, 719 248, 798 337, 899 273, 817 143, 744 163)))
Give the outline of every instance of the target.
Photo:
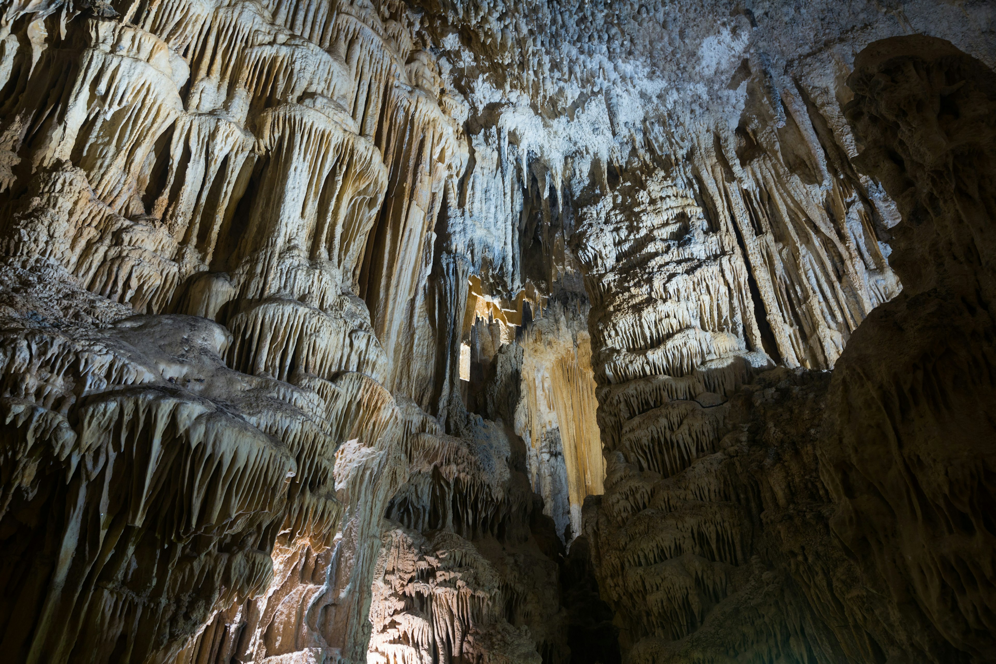
POLYGON ((432 60, 364 3, 5 12, 8 653, 363 658, 382 331, 464 159, 432 60))

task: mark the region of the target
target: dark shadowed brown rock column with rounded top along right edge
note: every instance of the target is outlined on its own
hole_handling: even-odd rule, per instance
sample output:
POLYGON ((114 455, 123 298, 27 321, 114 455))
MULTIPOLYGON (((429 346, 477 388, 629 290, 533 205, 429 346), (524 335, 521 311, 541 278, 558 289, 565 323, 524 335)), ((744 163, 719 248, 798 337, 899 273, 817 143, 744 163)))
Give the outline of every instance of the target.
POLYGON ((849 85, 857 163, 902 213, 891 244, 903 292, 834 371, 820 451, 831 526, 905 625, 911 661, 989 661, 996 75, 909 37, 871 44, 849 85))

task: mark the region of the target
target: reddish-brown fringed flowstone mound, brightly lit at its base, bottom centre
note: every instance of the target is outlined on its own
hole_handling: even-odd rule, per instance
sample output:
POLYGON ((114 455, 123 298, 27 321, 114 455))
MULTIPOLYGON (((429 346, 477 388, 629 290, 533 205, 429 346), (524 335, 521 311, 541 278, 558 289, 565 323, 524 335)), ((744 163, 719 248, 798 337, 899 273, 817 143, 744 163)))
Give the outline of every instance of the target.
POLYGON ((531 524, 538 508, 508 435, 467 424, 462 438, 413 440, 374 576, 369 661, 568 661, 558 567, 534 535, 553 525, 531 524))

